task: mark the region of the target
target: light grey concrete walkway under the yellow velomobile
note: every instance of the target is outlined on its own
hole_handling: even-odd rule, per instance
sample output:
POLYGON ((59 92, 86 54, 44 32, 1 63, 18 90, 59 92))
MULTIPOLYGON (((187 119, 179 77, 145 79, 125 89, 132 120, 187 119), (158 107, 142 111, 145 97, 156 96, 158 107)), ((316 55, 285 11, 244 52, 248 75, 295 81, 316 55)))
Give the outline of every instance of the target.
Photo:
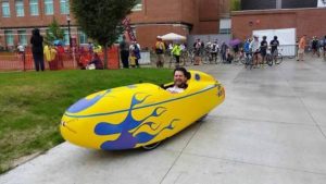
POLYGON ((226 88, 205 121, 152 151, 59 145, 1 184, 325 184, 326 62, 193 68, 226 88))

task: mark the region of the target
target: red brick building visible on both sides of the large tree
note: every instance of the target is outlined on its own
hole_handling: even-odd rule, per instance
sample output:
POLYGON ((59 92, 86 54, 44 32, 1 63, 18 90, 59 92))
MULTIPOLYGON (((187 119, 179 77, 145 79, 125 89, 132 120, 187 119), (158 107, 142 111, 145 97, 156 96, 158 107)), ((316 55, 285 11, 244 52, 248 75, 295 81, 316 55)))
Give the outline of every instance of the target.
MULTIPOLYGON (((0 16, 0 45, 15 47, 29 44, 32 29, 45 34, 53 17, 65 32, 68 42, 67 17, 70 0, 2 0, 0 16)), ((171 32, 189 34, 217 34, 220 19, 228 16, 229 0, 139 0, 129 15, 131 27, 142 47, 150 47, 158 35, 171 32)), ((71 17, 71 35, 78 44, 87 37, 71 17)))

